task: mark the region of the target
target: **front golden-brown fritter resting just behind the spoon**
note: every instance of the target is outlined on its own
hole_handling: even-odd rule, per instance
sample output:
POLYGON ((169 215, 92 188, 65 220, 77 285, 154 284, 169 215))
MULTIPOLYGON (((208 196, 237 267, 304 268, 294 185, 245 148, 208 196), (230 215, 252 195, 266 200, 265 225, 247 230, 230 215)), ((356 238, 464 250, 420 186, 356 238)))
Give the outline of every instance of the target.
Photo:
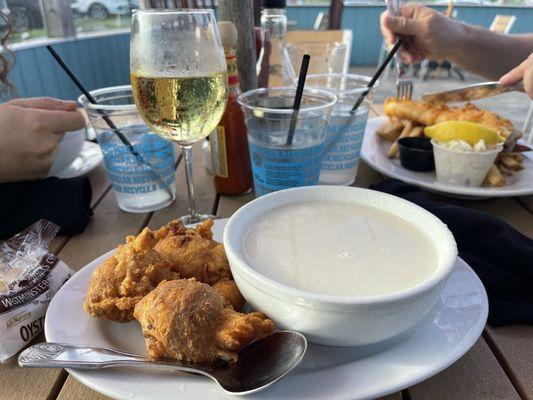
POLYGON ((196 363, 236 361, 237 352, 274 332, 264 314, 241 314, 194 279, 161 283, 135 306, 148 355, 196 363))

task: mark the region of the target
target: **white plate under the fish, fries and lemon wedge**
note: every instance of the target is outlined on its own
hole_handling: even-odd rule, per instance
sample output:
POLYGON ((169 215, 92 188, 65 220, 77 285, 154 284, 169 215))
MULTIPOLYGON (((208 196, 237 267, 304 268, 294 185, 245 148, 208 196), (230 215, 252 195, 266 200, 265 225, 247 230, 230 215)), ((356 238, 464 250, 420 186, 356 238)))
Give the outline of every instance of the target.
POLYGON ((502 187, 466 187, 438 182, 435 172, 414 172, 403 168, 399 159, 390 159, 387 152, 390 142, 381 140, 376 130, 387 121, 387 117, 368 120, 361 157, 375 170, 390 178, 420 186, 424 189, 464 198, 490 198, 525 196, 533 194, 533 161, 526 157, 524 170, 505 176, 506 184, 502 187))

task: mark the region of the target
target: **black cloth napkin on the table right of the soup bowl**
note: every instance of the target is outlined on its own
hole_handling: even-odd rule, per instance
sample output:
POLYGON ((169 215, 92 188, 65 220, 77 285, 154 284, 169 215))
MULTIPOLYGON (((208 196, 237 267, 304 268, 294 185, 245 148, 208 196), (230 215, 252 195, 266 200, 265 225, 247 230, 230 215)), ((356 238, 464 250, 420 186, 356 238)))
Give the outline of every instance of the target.
POLYGON ((482 211, 433 201, 395 179, 371 185, 440 218, 452 231, 459 256, 479 276, 489 297, 489 324, 533 324, 533 240, 482 211))

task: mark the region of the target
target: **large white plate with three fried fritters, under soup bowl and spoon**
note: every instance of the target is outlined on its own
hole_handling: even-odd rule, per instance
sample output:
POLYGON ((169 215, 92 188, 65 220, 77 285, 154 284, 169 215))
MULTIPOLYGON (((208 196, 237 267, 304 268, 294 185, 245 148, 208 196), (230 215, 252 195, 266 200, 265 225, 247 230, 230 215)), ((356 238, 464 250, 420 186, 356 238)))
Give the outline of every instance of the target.
MULTIPOLYGON (((227 220, 194 228, 172 221, 95 259, 52 299, 49 342, 149 356, 232 363, 249 342, 271 334, 268 316, 249 309, 232 279, 227 220)), ((311 344, 287 377, 249 399, 371 399, 416 384, 461 357, 479 337, 488 303, 482 283, 457 260, 439 301, 413 331, 375 345, 311 344)), ((131 367, 69 369, 115 399, 230 398, 203 376, 131 367)))

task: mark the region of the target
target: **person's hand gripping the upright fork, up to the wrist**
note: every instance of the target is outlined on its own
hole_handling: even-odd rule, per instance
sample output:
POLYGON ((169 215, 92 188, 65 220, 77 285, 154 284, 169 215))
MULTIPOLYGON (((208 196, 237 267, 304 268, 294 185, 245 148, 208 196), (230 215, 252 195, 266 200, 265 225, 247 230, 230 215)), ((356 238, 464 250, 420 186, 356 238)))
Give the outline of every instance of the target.
POLYGON ((462 24, 416 4, 403 6, 400 17, 383 12, 380 25, 387 44, 393 45, 396 37, 401 37, 400 55, 408 63, 443 60, 461 40, 462 24))

